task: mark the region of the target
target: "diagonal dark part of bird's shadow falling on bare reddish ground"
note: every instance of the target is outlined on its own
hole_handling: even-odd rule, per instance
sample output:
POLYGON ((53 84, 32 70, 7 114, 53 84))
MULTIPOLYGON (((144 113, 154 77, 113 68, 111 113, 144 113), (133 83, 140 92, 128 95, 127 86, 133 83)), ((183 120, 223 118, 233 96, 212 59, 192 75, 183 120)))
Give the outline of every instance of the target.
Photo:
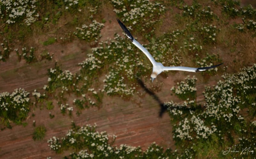
POLYGON ((149 94, 151 95, 159 104, 160 106, 160 111, 159 111, 159 117, 162 117, 164 112, 166 112, 167 107, 164 106, 164 103, 158 98, 158 96, 152 92, 151 90, 149 90, 143 83, 143 81, 141 79, 139 79, 138 77, 136 77, 137 82, 139 83, 139 85, 149 94))

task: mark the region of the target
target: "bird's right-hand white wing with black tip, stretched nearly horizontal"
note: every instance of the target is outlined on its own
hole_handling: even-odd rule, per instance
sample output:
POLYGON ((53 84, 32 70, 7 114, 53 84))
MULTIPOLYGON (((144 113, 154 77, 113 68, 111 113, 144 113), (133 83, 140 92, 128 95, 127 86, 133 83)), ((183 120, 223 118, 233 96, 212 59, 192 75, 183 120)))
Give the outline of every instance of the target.
MULTIPOLYGON (((223 64, 223 63, 221 63, 221 64, 223 64)), ((189 71, 189 72, 202 72, 202 71, 209 70, 209 69, 215 68, 217 66, 220 66, 221 64, 215 65, 215 66, 210 66, 210 67, 199 67, 199 68, 183 67, 183 66, 173 66, 173 67, 165 67, 164 66, 163 70, 164 71, 177 70, 177 71, 189 71)))

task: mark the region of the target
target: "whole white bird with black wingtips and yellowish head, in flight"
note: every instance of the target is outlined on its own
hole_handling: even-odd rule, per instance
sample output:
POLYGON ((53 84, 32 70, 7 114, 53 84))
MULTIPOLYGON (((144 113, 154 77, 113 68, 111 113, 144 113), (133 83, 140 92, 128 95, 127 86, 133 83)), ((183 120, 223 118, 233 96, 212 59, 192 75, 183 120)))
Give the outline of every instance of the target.
POLYGON ((129 38, 129 40, 136 45, 142 52, 144 52, 144 54, 149 58, 150 62, 153 64, 153 71, 152 74, 150 75, 152 83, 153 80, 163 71, 168 71, 168 70, 177 70, 177 71, 189 71, 189 72, 201 72, 201 71, 205 71, 205 70, 209 70, 212 69, 214 67, 220 66, 219 65, 215 65, 215 66, 210 66, 210 67, 200 67, 200 68, 193 68, 193 67, 183 67, 183 66, 163 66, 162 63, 160 62, 156 62, 155 59, 151 56, 151 54, 147 51, 147 49, 145 49, 139 42, 137 42, 132 34, 130 33, 130 31, 126 28, 126 26, 119 20, 117 19, 118 23, 120 24, 121 28, 123 29, 123 31, 125 32, 126 36, 129 38))

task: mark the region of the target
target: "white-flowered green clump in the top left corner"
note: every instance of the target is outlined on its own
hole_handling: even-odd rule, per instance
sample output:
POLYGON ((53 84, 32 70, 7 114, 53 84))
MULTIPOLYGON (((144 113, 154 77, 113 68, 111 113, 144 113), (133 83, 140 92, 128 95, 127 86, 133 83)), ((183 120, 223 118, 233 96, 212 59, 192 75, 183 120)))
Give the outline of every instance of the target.
POLYGON ((3 0, 0 3, 0 18, 7 24, 24 20, 27 25, 31 25, 39 17, 35 4, 36 0, 3 0))

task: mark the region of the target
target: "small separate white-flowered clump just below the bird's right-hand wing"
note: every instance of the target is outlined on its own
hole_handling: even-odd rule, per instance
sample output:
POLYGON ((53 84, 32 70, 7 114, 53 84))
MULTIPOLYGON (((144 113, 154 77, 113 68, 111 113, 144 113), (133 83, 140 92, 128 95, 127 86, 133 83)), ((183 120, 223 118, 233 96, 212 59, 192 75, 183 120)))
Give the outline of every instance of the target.
POLYGON ((195 76, 190 78, 190 76, 188 75, 185 78, 185 81, 177 82, 177 88, 173 86, 171 88, 171 91, 173 91, 173 93, 175 93, 176 95, 180 96, 183 99, 187 99, 188 97, 195 98, 195 93, 197 91, 197 88, 195 87, 196 81, 197 81, 197 78, 195 76))

